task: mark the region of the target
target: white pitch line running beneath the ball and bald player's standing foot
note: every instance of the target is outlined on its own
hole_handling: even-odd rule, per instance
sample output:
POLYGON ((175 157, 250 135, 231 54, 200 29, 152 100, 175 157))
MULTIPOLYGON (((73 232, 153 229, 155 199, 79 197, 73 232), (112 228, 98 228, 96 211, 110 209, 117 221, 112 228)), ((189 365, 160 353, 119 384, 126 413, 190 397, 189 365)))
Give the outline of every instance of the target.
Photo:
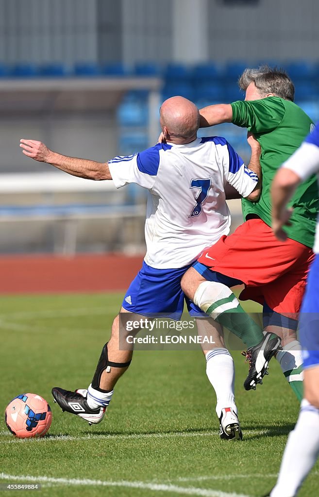
MULTIPOLYGON (((249 435, 262 435, 262 434, 267 434, 267 431, 262 430, 262 431, 256 431, 256 430, 247 430, 244 432, 245 434, 249 435)), ((130 439, 135 439, 135 440, 140 440, 140 439, 147 439, 147 438, 178 438, 178 437, 184 437, 184 438, 191 438, 191 437, 207 437, 207 436, 215 436, 217 437, 218 432, 217 431, 204 431, 204 432, 188 432, 188 431, 176 431, 175 433, 168 432, 168 433, 128 433, 128 434, 122 434, 122 433, 113 433, 113 434, 87 434, 83 436, 72 436, 72 435, 47 435, 45 437, 35 437, 35 438, 25 438, 25 439, 17 439, 17 438, 12 438, 9 432, 1 432, 0 434, 2 435, 8 435, 10 437, 9 440, 0 440, 0 444, 5 444, 5 443, 30 443, 30 442, 69 442, 69 441, 79 441, 79 440, 130 440, 130 439)))

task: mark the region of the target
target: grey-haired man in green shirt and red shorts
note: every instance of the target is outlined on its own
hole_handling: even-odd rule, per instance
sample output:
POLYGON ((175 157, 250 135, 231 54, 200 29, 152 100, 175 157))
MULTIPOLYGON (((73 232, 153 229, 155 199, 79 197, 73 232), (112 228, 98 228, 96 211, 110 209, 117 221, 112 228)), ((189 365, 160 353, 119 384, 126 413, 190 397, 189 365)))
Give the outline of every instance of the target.
MULTIPOLYGON (((254 134, 261 146, 261 195, 257 202, 242 199, 245 222, 233 235, 222 237, 203 252, 184 275, 182 289, 203 311, 247 344, 249 374, 244 387, 249 390, 261 383, 267 364, 261 371, 259 363, 264 358, 257 345, 261 331, 258 338, 253 324, 243 321, 239 302, 229 289, 244 283, 240 298, 263 305, 264 329, 282 338, 283 350, 277 352, 277 359, 301 400, 302 356, 296 330, 308 268, 314 257, 318 187, 312 176, 297 189, 291 201, 288 240, 283 243, 271 231, 270 185, 278 167, 301 145, 313 123, 293 103, 294 85, 286 73, 268 67, 246 69, 239 85, 246 91, 245 101, 201 109, 201 126, 232 122, 254 134)), ((212 361, 218 354, 206 351, 207 357, 212 361)))

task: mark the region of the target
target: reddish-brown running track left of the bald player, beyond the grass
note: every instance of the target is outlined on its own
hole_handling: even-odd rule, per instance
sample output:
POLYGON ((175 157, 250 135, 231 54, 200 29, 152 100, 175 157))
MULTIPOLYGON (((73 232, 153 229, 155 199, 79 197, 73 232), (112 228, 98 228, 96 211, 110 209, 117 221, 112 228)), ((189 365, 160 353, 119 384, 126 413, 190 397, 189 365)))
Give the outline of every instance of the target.
POLYGON ((142 260, 143 256, 122 254, 1 256, 0 293, 121 291, 142 260))

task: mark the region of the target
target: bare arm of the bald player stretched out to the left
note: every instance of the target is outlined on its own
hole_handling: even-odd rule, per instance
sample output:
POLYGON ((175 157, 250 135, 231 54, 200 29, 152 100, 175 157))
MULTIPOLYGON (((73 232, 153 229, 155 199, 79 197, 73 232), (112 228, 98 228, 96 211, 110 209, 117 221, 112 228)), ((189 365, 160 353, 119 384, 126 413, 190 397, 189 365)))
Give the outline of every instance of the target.
POLYGON ((112 179, 107 163, 64 156, 53 152, 44 143, 36 140, 22 139, 20 140, 20 147, 27 157, 35 161, 51 164, 73 176, 94 180, 112 179))

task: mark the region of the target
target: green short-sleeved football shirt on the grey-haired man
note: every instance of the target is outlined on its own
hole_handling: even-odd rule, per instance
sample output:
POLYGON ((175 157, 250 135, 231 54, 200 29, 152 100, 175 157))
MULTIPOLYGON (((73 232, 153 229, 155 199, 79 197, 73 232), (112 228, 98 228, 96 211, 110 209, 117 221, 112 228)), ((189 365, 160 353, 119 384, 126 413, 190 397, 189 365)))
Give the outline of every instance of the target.
MULTIPOLYGON (((276 96, 231 104, 232 122, 251 131, 261 146, 262 189, 257 202, 242 199, 242 214, 258 215, 271 226, 270 188, 277 169, 290 157, 310 132, 312 120, 294 102, 276 96)), ((318 214, 317 177, 302 183, 289 206, 293 207, 289 238, 308 247, 314 246, 318 214)))

